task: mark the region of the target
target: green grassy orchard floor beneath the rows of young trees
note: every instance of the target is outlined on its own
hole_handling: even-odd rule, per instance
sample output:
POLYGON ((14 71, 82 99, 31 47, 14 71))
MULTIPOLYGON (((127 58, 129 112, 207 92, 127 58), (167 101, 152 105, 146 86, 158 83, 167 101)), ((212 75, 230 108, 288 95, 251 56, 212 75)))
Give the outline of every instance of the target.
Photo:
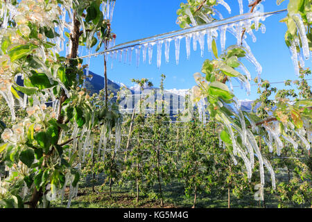
MULTIPOLYGON (((135 192, 129 186, 120 187, 119 185, 114 185, 112 189, 112 197, 109 196, 110 188, 103 184, 103 177, 98 178, 95 190, 92 191, 92 183, 90 178, 85 178, 80 182, 78 195, 73 198, 71 202, 72 208, 157 208, 160 207, 160 201, 157 200, 155 193, 157 192, 157 187, 155 189, 150 189, 149 195, 141 195, 139 197, 139 202, 136 202, 135 192)), ((164 207, 179 208, 179 207, 192 207, 193 196, 187 198, 184 195, 183 185, 175 181, 171 185, 163 187, 164 191, 164 207)), ((65 200, 63 205, 60 204, 60 200, 55 200, 51 203, 51 207, 66 207, 67 197, 69 191, 65 192, 65 200)), ((268 191, 265 193, 266 207, 277 207, 277 198, 269 194, 268 191)), ((243 198, 238 199, 231 195, 231 207, 237 208, 254 208, 263 207, 263 203, 259 205, 259 201, 254 200, 254 194, 248 193, 243 196, 243 198)), ((227 193, 220 195, 217 194, 216 190, 212 190, 211 194, 199 194, 197 198, 196 207, 200 208, 225 208, 227 207, 227 193)), ((304 207, 296 206, 290 204, 289 207, 304 207)))

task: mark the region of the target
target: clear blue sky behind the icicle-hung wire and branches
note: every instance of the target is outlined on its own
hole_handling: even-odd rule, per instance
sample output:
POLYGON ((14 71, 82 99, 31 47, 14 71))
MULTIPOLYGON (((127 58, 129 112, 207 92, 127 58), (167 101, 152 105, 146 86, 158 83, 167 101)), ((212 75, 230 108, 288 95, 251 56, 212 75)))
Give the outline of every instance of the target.
MULTIPOLYGON (((236 0, 225 0, 232 8, 232 13, 229 15, 223 6, 217 6, 224 17, 232 17, 239 15, 239 3, 236 0)), ((112 20, 112 31, 116 33, 116 44, 129 42, 132 40, 149 37, 160 33, 179 30, 180 27, 175 23, 177 19, 176 11, 180 8, 180 3, 186 0, 158 0, 158 1, 144 1, 144 0, 117 0, 114 9, 114 17, 112 20)), ((276 1, 264 1, 262 3, 265 12, 284 9, 287 7, 288 1, 284 1, 280 6, 276 5, 276 1)), ((248 1, 243 0, 244 12, 248 12, 248 1)), ((270 82, 283 81, 286 79, 295 80, 295 71, 291 61, 291 53, 289 52, 285 42, 284 34, 286 32, 286 25, 280 23, 279 20, 286 16, 286 12, 279 15, 272 15, 268 17, 263 24, 266 25, 266 33, 261 31, 254 32, 257 37, 257 42, 252 42, 248 35, 247 42, 254 53, 254 56, 263 67, 261 78, 267 79, 270 82)), ((235 44, 236 40, 227 35, 226 47, 235 44)), ((219 40, 217 41, 220 47, 219 40)), ((180 62, 175 65, 175 48, 171 42, 170 61, 168 63, 164 60, 164 46, 162 54, 162 66, 157 69, 156 65, 156 46, 153 50, 153 62, 148 65, 140 61, 139 67, 135 62, 135 53, 132 55, 132 65, 124 64, 118 60, 114 61, 113 69, 110 68, 111 62, 108 62, 108 78, 116 82, 124 83, 131 86, 131 78, 149 78, 155 86, 159 85, 160 75, 165 74, 166 80, 164 86, 166 89, 187 89, 195 85, 193 74, 200 71, 202 62, 205 59, 211 59, 211 53, 207 50, 205 43, 205 55, 200 56, 200 49, 193 51, 191 47, 191 56, 187 60, 185 41, 181 41, 180 46, 180 62)), ((220 49, 219 49, 220 50, 220 49)), ((141 58, 142 60, 142 58, 141 58)), ((85 59, 86 62, 86 59, 85 59)), ((254 66, 247 60, 243 61, 248 67, 252 79, 257 76, 254 66)), ((311 60, 306 60, 306 67, 311 67, 311 60)), ((94 73, 103 76, 103 56, 90 59, 90 70, 94 73)), ((253 83, 253 82, 252 82, 253 83)), ((311 82, 309 82, 311 83, 311 82)), ((236 81, 233 85, 238 85, 236 81)), ((283 87, 284 84, 275 85, 276 87, 283 87)), ((257 87, 252 87, 252 92, 248 96, 245 90, 240 87, 234 87, 234 94, 239 99, 256 99, 257 87)))

